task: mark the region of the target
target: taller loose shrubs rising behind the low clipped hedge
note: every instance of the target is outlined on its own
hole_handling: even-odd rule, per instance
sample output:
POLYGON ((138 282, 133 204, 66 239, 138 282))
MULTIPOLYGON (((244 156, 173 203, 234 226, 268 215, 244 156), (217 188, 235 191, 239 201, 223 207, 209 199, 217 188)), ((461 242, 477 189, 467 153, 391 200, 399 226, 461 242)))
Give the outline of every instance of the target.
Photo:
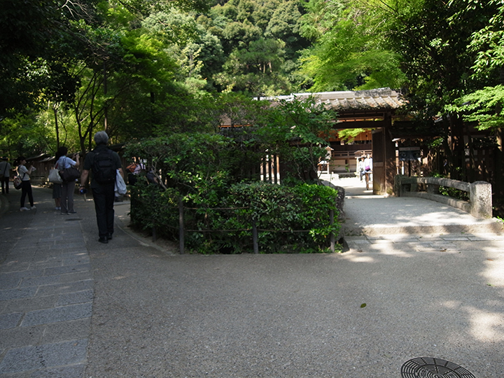
MULTIPOLYGON (((314 104, 313 98, 280 102, 275 107, 266 104, 250 100, 221 104, 233 118, 251 123, 249 127, 130 141, 125 155, 146 161, 169 178, 167 185, 187 195, 193 195, 191 190, 202 195, 203 186, 217 190, 230 183, 255 180, 267 154, 281 155, 288 162, 287 181, 317 181, 313 173, 327 145, 319 135, 328 131, 334 114, 314 104)), ((218 195, 214 193, 214 197, 218 195)))

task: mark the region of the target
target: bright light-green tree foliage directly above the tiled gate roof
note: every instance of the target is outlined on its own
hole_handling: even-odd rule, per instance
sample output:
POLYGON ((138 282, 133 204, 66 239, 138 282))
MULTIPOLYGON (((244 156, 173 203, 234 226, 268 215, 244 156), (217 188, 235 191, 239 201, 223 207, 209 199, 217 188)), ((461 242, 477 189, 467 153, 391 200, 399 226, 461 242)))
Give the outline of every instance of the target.
POLYGON ((384 15, 372 2, 309 0, 302 34, 314 44, 303 51, 302 73, 316 92, 401 87, 400 54, 388 48, 384 15))

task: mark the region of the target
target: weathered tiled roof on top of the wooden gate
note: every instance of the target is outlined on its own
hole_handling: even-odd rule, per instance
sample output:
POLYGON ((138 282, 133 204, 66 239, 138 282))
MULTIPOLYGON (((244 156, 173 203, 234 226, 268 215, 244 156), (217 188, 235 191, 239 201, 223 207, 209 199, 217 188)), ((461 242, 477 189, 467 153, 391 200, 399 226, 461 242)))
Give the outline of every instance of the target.
POLYGON ((405 99, 400 93, 390 88, 380 88, 375 90, 357 90, 342 92, 314 92, 314 93, 293 93, 287 96, 267 97, 270 101, 306 99, 309 96, 315 97, 318 104, 330 106, 335 111, 386 111, 399 109, 405 104, 405 99))

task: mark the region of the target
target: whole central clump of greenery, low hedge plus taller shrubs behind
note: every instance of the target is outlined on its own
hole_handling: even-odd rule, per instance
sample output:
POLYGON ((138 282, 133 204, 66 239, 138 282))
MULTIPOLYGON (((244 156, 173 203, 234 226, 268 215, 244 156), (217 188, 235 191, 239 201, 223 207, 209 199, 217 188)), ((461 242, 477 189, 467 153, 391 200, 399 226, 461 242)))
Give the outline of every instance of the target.
POLYGON ((327 131, 332 113, 316 106, 314 99, 282 102, 274 108, 260 102, 248 105, 231 108, 235 116, 254 121, 249 127, 127 144, 125 154, 146 162, 160 181, 149 184, 141 176, 131 187, 133 223, 176 239, 180 198, 189 230, 186 244, 195 251, 250 250, 253 222, 263 252, 326 251, 330 234, 338 229, 329 222, 336 192, 309 185, 317 180, 309 173, 325 155, 325 141, 318 134, 327 131), (259 181, 267 154, 280 154, 290 167, 281 186, 259 181))

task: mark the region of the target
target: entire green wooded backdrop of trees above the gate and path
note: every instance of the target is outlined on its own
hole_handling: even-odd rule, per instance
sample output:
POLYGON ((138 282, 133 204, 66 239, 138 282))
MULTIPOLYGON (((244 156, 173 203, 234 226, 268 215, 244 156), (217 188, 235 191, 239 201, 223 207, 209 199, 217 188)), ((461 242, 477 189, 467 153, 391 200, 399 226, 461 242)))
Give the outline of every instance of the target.
POLYGON ((464 119, 491 131, 485 143, 500 140, 503 0, 0 7, 0 149, 10 158, 88 151, 104 128, 113 142, 214 132, 247 99, 377 87, 402 90, 419 120, 442 119, 433 144, 449 153, 463 154, 464 119))

